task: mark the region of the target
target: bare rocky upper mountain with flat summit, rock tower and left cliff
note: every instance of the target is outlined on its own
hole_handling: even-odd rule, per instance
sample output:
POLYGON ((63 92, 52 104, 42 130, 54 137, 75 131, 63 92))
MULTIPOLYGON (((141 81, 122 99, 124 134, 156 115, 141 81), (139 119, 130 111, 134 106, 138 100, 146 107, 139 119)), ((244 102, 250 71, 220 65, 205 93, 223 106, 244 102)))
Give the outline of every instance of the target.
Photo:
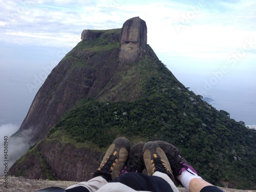
POLYGON ((146 24, 142 19, 129 19, 122 29, 84 30, 81 39, 48 76, 20 126, 20 131, 33 131, 31 143, 44 138, 81 98, 133 100, 141 93, 130 92, 137 79, 121 84, 118 73, 129 67, 125 63, 134 62, 147 52, 146 24), (127 92, 126 97, 120 97, 120 92, 127 92))

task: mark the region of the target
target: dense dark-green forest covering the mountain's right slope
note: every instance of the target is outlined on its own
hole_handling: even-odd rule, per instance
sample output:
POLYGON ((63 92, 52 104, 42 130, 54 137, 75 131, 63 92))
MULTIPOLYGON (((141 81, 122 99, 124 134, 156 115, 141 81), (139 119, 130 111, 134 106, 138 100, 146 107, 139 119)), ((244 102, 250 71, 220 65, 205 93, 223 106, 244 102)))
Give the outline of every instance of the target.
POLYGON ((81 100, 49 136, 61 131, 79 143, 93 142, 99 147, 118 136, 165 140, 178 146, 207 181, 256 188, 254 131, 188 91, 156 58, 147 56, 125 70, 119 72, 122 83, 136 78, 134 89, 143 92, 139 99, 81 100))

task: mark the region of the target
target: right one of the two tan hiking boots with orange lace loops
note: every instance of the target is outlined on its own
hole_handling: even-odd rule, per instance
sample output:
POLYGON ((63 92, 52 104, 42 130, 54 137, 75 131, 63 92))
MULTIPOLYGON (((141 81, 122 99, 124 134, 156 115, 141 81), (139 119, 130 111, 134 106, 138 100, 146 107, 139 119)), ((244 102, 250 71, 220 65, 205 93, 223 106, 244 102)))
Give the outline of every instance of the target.
POLYGON ((156 142, 146 142, 143 147, 143 159, 148 175, 153 175, 155 172, 161 172, 168 175, 169 178, 174 181, 169 161, 156 142))

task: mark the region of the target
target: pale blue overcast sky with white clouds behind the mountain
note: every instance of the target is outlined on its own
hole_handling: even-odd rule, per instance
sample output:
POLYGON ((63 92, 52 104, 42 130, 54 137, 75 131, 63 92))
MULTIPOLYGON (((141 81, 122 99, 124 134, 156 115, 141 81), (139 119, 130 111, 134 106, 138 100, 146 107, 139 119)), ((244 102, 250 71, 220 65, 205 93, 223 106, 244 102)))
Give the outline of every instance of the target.
MULTIPOLYGON (((8 89, 31 103, 45 73, 80 41, 83 29, 121 28, 139 16, 147 25, 147 43, 186 87, 204 96, 237 89, 252 98, 255 10, 255 0, 0 0, 0 88, 12 81, 8 89)), ((17 96, 9 92, 2 97, 17 96)))

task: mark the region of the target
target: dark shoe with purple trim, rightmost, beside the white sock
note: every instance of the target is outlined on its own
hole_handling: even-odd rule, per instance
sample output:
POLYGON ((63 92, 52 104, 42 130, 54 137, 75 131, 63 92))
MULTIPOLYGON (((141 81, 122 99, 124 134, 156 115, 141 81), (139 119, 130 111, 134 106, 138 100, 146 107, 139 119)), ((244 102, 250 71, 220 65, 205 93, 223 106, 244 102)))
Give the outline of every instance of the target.
MULTIPOLYGON (((180 154, 180 151, 178 150, 177 147, 174 145, 166 142, 166 141, 155 141, 161 149, 164 151, 169 163, 170 167, 172 167, 174 177, 176 178, 177 176, 181 175, 181 173, 184 170, 187 170, 188 168, 192 170, 190 172, 187 170, 190 174, 192 175, 198 175, 196 170, 184 159, 184 157, 180 154)), ((178 181, 176 179, 176 181, 178 181)), ((178 181, 179 182, 179 181, 178 181)))

